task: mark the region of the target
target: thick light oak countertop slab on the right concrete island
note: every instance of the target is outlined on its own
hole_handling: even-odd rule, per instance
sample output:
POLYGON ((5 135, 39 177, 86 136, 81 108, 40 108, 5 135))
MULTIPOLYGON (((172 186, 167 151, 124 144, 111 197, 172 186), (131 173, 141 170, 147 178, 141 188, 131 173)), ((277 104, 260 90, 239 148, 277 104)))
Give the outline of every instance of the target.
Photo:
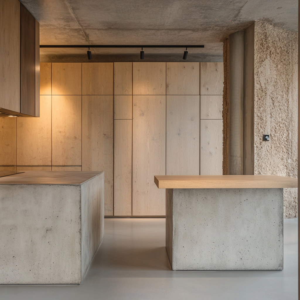
POLYGON ((298 179, 273 175, 154 176, 158 188, 283 188, 298 187, 298 179))

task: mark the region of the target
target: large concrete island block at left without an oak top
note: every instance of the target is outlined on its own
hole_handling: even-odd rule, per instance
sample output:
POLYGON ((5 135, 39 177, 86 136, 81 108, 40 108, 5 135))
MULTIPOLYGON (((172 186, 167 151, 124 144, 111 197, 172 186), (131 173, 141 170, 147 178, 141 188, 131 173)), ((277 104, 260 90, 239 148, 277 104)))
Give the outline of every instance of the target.
POLYGON ((0 178, 0 284, 79 284, 104 236, 104 172, 0 178))

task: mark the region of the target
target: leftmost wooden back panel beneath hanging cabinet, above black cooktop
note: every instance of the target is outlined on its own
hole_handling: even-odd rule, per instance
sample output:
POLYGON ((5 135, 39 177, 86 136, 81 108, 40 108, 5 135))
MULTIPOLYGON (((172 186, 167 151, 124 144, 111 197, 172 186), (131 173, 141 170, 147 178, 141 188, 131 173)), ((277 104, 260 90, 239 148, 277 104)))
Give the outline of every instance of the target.
POLYGON ((16 120, 0 118, 0 166, 16 165, 16 120))

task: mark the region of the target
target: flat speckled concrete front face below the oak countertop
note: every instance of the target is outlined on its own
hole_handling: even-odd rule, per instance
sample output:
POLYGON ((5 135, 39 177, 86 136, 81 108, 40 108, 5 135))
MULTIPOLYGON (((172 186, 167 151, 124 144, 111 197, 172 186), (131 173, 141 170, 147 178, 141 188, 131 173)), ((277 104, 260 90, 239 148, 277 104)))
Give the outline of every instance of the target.
POLYGON ((173 189, 173 270, 282 270, 283 189, 173 189))

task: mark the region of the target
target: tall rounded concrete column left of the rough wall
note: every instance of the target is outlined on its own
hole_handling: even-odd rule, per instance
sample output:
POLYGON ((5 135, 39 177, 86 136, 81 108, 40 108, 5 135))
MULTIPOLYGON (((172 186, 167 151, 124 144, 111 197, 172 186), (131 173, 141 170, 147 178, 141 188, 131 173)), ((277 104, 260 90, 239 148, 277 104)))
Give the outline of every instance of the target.
POLYGON ((229 35, 228 173, 244 174, 244 32, 229 35))

